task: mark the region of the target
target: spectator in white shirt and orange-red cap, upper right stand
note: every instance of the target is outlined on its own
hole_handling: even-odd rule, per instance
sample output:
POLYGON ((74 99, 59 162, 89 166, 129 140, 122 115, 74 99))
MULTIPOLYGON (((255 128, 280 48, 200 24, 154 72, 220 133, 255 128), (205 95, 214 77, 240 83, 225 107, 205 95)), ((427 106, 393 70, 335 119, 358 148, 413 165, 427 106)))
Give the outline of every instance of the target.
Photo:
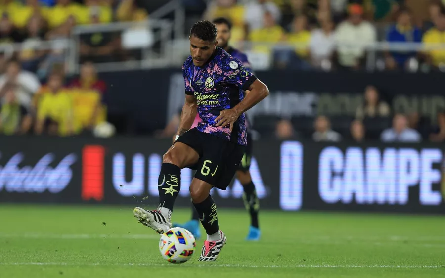
POLYGON ((321 29, 312 31, 309 42, 312 65, 330 69, 335 51, 334 24, 331 20, 321 21, 321 29))

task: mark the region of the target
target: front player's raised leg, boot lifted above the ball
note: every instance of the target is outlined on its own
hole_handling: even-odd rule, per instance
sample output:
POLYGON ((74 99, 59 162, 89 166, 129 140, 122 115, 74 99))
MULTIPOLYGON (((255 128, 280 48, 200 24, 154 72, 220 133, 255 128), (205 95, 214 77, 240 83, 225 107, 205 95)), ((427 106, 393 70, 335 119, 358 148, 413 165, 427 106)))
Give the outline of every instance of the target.
POLYGON ((170 147, 163 156, 158 179, 159 207, 154 211, 136 207, 134 216, 140 223, 158 233, 164 233, 172 227, 170 220, 180 190, 181 169, 195 164, 198 160, 197 151, 185 143, 177 141, 170 147))

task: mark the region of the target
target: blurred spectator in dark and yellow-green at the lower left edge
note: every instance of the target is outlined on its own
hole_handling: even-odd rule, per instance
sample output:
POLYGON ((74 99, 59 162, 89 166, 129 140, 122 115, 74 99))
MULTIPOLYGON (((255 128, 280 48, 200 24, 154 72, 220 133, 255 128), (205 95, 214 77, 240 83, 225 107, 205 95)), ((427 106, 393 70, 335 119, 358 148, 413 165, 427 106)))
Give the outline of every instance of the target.
POLYGON ((3 87, 4 102, 0 110, 0 132, 6 135, 25 134, 29 131, 32 118, 28 109, 20 105, 15 96, 15 85, 3 87))

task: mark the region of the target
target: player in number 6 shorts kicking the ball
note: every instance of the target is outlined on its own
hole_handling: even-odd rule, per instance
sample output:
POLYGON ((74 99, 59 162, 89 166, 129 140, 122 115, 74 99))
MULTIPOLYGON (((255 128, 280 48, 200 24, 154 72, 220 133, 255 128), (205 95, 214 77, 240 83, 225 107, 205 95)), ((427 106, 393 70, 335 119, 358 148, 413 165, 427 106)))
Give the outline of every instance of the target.
POLYGON ((218 225, 210 190, 225 190, 235 175, 247 145, 245 114, 269 90, 241 62, 217 47, 215 24, 206 20, 190 30, 190 56, 182 72, 185 103, 176 141, 163 156, 159 175, 159 206, 134 208, 134 216, 158 233, 172 227, 171 215, 180 190, 181 169, 197 170, 190 184, 192 203, 207 233, 199 261, 214 261, 226 237, 218 225), (250 93, 244 97, 243 91, 250 93), (198 111, 202 122, 190 129, 198 111))

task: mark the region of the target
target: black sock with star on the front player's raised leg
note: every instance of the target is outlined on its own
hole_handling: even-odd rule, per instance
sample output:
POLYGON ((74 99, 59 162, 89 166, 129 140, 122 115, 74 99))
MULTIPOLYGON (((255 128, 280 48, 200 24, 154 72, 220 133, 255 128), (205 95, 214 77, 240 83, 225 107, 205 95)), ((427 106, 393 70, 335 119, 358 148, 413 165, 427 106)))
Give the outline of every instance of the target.
POLYGON ((159 203, 173 211, 175 199, 181 189, 181 169, 171 163, 162 163, 158 179, 159 203))

